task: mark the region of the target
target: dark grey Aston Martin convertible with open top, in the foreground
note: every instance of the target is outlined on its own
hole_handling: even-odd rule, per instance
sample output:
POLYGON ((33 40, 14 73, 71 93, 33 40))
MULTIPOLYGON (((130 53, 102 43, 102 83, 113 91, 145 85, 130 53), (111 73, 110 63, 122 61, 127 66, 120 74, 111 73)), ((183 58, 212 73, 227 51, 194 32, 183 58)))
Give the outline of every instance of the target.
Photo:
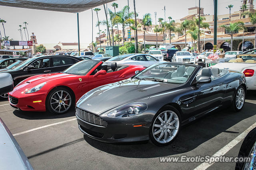
POLYGON ((220 107, 240 111, 244 74, 193 64, 152 65, 135 76, 95 88, 76 104, 82 133, 108 143, 150 139, 170 144, 182 125, 220 107))

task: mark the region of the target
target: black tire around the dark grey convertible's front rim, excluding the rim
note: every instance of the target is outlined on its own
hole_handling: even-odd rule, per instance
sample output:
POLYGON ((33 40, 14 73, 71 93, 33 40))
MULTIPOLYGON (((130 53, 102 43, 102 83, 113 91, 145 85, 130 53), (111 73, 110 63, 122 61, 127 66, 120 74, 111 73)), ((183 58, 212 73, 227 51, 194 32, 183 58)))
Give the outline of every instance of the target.
POLYGON ((179 135, 179 132, 180 132, 180 127, 181 127, 181 116, 180 116, 180 112, 173 106, 164 106, 162 107, 154 116, 154 118, 152 119, 152 124, 150 126, 150 132, 149 132, 149 138, 150 140, 152 141, 152 143, 154 143, 156 146, 159 146, 159 147, 164 147, 166 145, 169 145, 170 143, 172 143, 173 141, 175 141, 175 139, 177 138, 177 136, 179 135), (178 118, 179 118, 179 128, 178 128, 178 132, 176 134, 176 136, 168 143, 158 143, 154 136, 153 136, 153 124, 154 124, 154 121, 156 120, 156 118, 158 117, 158 115, 160 115, 162 112, 164 111, 167 111, 167 110, 170 110, 170 111, 173 111, 176 113, 176 115, 178 115, 178 118))

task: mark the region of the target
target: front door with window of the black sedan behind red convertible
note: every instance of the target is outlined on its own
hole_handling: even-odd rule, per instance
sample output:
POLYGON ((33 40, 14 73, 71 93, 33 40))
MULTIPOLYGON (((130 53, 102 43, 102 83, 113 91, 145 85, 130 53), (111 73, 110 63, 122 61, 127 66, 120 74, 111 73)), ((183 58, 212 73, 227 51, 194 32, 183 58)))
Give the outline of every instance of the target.
POLYGON ((50 58, 42 58, 32 62, 28 65, 22 73, 22 79, 26 79, 31 76, 35 76, 38 74, 44 74, 50 72, 50 58))

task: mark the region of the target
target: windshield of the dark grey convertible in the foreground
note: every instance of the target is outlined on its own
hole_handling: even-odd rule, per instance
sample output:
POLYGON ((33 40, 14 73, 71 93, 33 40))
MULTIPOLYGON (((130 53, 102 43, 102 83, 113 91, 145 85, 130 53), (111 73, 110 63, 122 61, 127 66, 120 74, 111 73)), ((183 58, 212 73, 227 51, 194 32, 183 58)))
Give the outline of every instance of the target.
POLYGON ((184 84, 195 69, 196 66, 188 64, 162 63, 146 68, 135 78, 171 84, 184 84))

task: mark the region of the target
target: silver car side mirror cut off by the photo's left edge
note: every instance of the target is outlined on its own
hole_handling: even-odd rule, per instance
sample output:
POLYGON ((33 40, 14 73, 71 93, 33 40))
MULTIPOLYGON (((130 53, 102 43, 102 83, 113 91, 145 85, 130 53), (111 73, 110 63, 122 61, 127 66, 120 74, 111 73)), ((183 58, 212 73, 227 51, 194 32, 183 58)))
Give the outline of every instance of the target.
POLYGON ((10 73, 0 73, 0 94, 6 94, 13 90, 13 80, 10 73))

